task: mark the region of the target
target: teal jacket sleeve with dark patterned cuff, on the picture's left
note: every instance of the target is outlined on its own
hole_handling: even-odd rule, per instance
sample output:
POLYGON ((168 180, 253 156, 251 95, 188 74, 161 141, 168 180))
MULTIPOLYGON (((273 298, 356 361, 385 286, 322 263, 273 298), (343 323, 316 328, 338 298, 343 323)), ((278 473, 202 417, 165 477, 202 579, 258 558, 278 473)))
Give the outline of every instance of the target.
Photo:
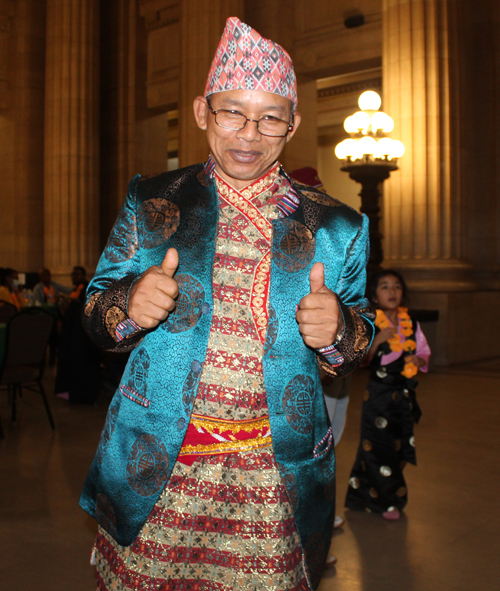
POLYGON ((127 306, 129 290, 144 271, 141 269, 137 227, 140 178, 137 175, 130 181, 125 203, 87 288, 82 312, 87 334, 106 351, 130 351, 147 332, 128 318, 127 306))

